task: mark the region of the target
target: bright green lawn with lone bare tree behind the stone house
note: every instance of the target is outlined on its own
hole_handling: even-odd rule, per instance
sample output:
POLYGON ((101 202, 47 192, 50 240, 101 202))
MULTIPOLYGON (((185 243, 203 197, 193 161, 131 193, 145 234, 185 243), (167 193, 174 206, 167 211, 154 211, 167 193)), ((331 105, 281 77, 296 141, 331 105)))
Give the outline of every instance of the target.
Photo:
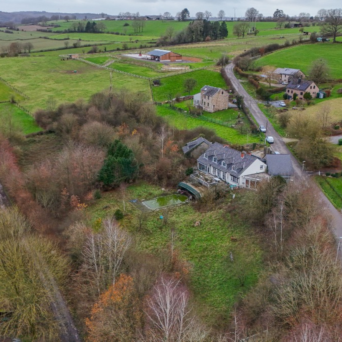
POLYGON ((177 93, 188 95, 188 92, 184 90, 183 85, 187 78, 194 78, 197 81, 196 87, 190 92, 191 95, 199 93, 201 88, 206 85, 224 89, 227 88, 220 73, 203 69, 193 71, 191 73, 162 78, 160 80, 161 85, 159 87, 152 88, 154 100, 157 102, 166 101, 166 94, 168 92, 172 92, 174 95, 177 93))

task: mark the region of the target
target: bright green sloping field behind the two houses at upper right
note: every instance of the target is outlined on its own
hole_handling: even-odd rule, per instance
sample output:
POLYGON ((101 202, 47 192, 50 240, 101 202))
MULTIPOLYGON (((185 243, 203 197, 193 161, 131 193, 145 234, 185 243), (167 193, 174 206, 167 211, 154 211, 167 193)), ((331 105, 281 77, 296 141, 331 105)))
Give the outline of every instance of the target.
POLYGON ((327 60, 331 70, 331 78, 342 78, 340 44, 316 43, 300 45, 264 56, 257 61, 257 64, 301 69, 304 74, 307 74, 311 63, 318 58, 327 60))

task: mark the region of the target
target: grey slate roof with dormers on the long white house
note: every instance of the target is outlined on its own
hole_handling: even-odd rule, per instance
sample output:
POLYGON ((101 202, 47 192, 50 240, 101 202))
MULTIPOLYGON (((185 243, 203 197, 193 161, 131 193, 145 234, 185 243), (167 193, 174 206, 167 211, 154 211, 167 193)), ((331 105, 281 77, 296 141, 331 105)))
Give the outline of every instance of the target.
POLYGON ((208 155, 208 159, 204 158, 202 154, 197 161, 203 165, 211 165, 214 168, 229 172, 231 175, 239 177, 249 166, 253 164, 257 157, 245 154, 244 158, 241 158, 241 152, 228 146, 213 143, 205 152, 208 155), (217 158, 217 163, 213 161, 213 158, 217 158), (226 163, 226 166, 222 165, 222 162, 226 163), (232 170, 232 166, 235 165, 236 171, 232 170))

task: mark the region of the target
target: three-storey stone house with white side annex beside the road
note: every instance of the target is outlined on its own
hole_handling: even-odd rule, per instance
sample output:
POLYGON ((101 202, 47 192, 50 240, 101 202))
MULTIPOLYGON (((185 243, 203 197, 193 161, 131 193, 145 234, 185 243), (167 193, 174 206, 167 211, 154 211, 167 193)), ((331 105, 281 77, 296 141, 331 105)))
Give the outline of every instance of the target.
POLYGON ((229 93, 221 88, 204 86, 199 94, 194 95, 194 105, 213 113, 229 107, 229 93))

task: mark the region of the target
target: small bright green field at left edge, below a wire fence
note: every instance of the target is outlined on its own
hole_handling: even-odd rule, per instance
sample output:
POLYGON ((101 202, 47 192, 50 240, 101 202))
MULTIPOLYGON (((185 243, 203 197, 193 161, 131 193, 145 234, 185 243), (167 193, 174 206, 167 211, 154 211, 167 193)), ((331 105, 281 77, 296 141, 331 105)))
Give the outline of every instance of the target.
POLYGON ((34 133, 42 129, 36 124, 34 118, 26 114, 17 106, 10 103, 0 103, 0 126, 2 123, 9 124, 19 129, 24 134, 34 133))

